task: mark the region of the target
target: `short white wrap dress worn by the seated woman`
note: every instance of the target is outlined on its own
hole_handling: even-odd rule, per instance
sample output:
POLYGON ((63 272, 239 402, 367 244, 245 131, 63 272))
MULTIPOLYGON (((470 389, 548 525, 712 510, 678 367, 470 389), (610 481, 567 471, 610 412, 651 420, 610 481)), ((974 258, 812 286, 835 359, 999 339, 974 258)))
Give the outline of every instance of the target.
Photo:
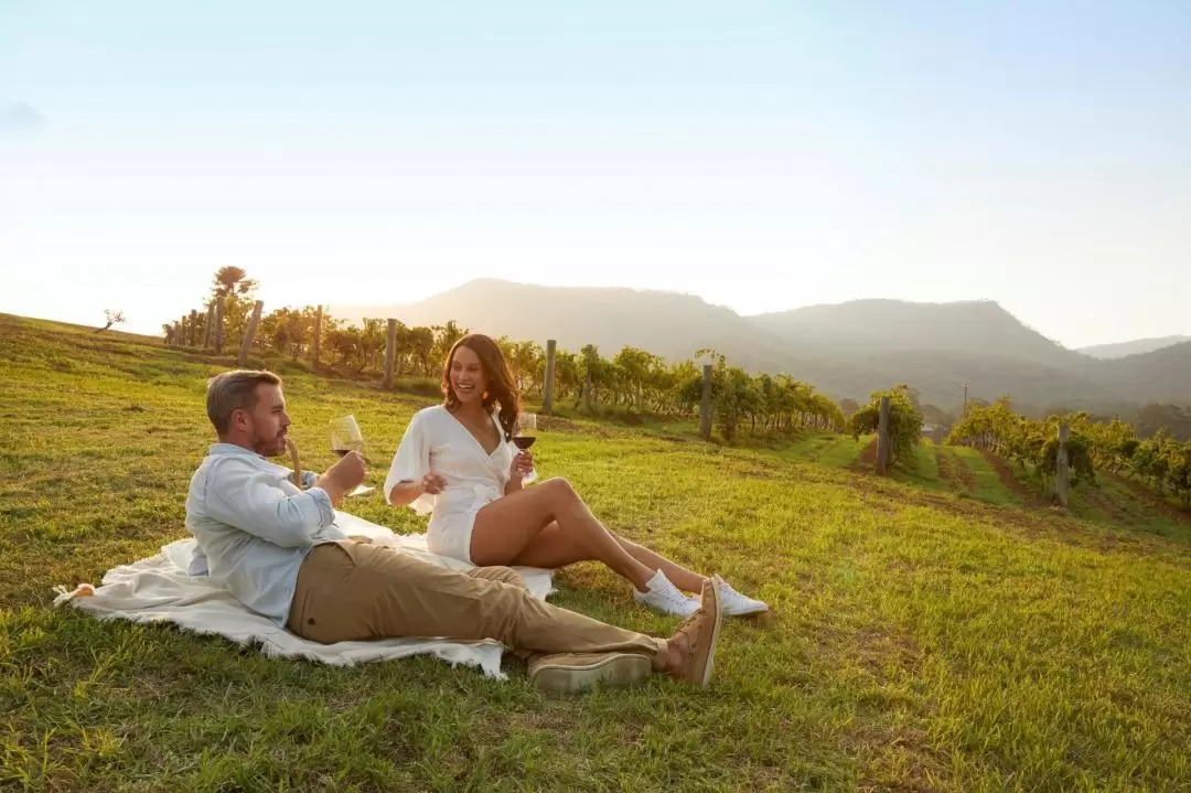
MULTIPOLYGON (((503 438, 495 413, 492 422, 503 438)), ((432 554, 472 562, 475 513, 505 494, 516 455, 510 441, 487 454, 445 406, 426 407, 413 414, 405 430, 385 477, 385 498, 400 482, 420 482, 430 472, 441 474, 447 488, 437 495, 419 495, 410 506, 418 514, 430 513, 426 547, 432 554)))

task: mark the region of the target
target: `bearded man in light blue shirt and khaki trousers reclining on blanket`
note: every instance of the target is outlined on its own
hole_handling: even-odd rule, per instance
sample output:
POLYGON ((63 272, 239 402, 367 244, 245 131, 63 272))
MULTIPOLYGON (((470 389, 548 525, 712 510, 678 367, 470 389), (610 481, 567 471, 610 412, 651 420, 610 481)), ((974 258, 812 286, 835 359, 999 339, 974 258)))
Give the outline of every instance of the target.
MULTIPOLYGON (((347 538, 335 508, 363 481, 349 452, 322 476, 267 457, 286 451, 289 416, 281 379, 225 371, 207 385, 207 416, 219 443, 191 480, 186 525, 212 581, 248 608, 324 644, 395 637, 491 638, 529 655, 530 679, 549 691, 597 681, 631 682, 650 670, 706 686, 719 638, 719 595, 668 639, 613 627, 537 600, 510 568, 467 573, 347 538)), ((716 576, 718 577, 718 576, 716 576)))

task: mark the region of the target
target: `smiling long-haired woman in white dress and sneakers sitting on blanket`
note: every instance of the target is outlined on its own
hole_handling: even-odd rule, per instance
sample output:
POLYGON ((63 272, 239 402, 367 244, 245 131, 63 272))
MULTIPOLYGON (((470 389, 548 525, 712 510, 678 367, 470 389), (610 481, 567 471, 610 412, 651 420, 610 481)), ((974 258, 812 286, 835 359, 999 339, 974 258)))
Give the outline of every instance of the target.
MULTIPOLYGON (((704 576, 605 527, 565 479, 523 487, 534 457, 510 441, 520 400, 495 342, 461 338, 443 367, 443 405, 413 416, 385 480, 389 504, 431 513, 432 552, 481 567, 599 561, 632 582, 638 602, 682 617, 699 607, 682 591, 700 592, 704 576)), ((725 614, 768 611, 727 583, 721 595, 725 614)))

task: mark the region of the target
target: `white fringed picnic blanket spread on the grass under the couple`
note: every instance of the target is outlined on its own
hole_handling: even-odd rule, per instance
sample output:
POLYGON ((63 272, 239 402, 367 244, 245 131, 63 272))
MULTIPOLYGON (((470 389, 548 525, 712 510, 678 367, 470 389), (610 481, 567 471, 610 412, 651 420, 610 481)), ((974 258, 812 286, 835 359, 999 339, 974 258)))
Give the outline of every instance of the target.
MULTIPOLYGON (((467 569, 467 562, 437 556, 426 550, 425 535, 395 535, 344 512, 336 524, 345 535, 364 535, 382 545, 400 548, 443 567, 467 569)), ((205 576, 187 573, 194 555, 193 538, 163 545, 161 552, 132 564, 121 564, 104 574, 102 586, 79 585, 73 591, 57 587, 55 606, 69 604, 99 619, 129 619, 135 623, 174 623, 197 633, 218 633, 237 644, 260 642, 269 656, 288 656, 322 661, 335 666, 353 666, 363 661, 403 658, 410 655, 435 655, 451 666, 478 666, 490 678, 504 679, 499 642, 455 642, 442 638, 401 638, 375 642, 338 642, 319 644, 278 627, 270 619, 245 608, 223 587, 205 576), (88 591, 93 594, 87 595, 88 591)), ((534 597, 544 600, 554 592, 553 573, 541 568, 518 567, 534 597)))

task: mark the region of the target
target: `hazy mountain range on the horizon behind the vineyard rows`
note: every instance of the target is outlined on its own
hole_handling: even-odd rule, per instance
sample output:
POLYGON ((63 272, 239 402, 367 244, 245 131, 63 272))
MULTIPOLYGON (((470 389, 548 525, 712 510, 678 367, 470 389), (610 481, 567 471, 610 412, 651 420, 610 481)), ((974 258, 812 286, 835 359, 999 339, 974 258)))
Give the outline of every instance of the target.
MULTIPOLYGON (((855 300, 756 317, 668 292, 544 287, 478 280, 409 305, 331 306, 335 317, 448 319, 491 336, 637 346, 671 360, 712 348, 750 370, 786 373, 836 399, 867 399, 899 382, 923 402, 954 410, 964 398, 1009 394, 1023 412, 1054 407, 1130 412, 1142 401, 1191 402, 1191 341, 1108 358, 1070 350, 992 301, 855 300)), ((1156 341, 1155 341, 1156 343, 1156 341)))

